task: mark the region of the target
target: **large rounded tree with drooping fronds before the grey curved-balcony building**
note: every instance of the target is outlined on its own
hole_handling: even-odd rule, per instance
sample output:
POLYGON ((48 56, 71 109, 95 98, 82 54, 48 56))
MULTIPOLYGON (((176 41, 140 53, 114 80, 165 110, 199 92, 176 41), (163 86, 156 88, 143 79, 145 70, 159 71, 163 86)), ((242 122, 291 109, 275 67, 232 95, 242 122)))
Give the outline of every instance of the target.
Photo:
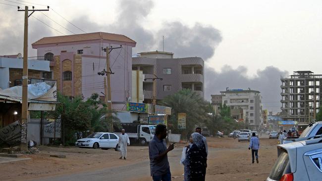
POLYGON ((172 133, 183 133, 178 130, 177 118, 178 113, 186 113, 186 131, 192 131, 195 126, 200 126, 207 122, 209 113, 212 112, 212 106, 205 101, 199 93, 187 89, 168 95, 161 100, 161 105, 172 108, 172 114, 168 123, 171 126, 172 133))

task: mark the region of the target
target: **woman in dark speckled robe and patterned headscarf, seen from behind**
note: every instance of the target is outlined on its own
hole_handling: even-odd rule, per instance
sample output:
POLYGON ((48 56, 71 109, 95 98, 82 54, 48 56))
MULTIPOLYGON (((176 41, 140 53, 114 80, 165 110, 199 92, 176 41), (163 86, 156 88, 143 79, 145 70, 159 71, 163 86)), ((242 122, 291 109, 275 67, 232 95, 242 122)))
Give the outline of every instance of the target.
POLYGON ((184 181, 205 181, 207 168, 207 152, 203 136, 199 133, 191 135, 192 144, 186 146, 184 165, 184 181))

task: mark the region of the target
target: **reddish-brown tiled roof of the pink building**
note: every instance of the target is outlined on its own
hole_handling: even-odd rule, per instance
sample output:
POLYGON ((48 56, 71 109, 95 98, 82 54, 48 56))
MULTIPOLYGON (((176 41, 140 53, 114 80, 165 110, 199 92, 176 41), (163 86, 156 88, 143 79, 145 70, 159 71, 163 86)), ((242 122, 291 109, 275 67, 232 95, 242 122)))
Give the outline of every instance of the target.
POLYGON ((77 35, 66 35, 66 36, 56 36, 56 37, 44 37, 32 45, 46 45, 46 44, 57 44, 57 43, 69 43, 69 42, 79 42, 79 41, 90 41, 90 40, 109 40, 116 42, 124 42, 136 44, 136 42, 124 35, 105 33, 105 32, 95 32, 77 35))

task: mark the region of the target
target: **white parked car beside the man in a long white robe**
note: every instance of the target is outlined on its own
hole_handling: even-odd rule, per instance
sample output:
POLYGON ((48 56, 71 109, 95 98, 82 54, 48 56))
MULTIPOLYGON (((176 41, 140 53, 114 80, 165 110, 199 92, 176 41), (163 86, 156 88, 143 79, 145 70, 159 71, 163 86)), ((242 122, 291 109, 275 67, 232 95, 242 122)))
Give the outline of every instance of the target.
POLYGON ((94 133, 86 138, 78 139, 75 142, 75 146, 89 147, 94 149, 114 148, 115 151, 119 151, 118 136, 113 133, 94 133))

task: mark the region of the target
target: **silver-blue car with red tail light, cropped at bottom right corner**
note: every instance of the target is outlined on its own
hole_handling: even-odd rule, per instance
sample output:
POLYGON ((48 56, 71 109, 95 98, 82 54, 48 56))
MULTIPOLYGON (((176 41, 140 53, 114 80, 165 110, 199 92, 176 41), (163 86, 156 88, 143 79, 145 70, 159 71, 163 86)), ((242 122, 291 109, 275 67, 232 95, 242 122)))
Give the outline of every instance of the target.
POLYGON ((321 181, 322 138, 279 144, 277 153, 266 181, 321 181))

